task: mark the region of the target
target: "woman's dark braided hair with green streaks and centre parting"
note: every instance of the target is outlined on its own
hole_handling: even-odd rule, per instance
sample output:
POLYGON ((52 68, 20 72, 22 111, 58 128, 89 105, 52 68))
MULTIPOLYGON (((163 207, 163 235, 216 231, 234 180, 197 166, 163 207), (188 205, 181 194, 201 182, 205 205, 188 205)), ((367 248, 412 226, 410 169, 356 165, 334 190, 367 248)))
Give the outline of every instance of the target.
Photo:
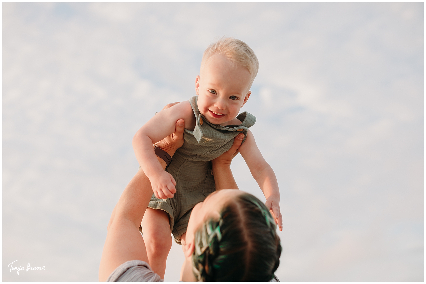
POLYGON ((249 193, 225 206, 219 221, 195 233, 193 272, 198 281, 269 281, 281 245, 268 208, 249 193))

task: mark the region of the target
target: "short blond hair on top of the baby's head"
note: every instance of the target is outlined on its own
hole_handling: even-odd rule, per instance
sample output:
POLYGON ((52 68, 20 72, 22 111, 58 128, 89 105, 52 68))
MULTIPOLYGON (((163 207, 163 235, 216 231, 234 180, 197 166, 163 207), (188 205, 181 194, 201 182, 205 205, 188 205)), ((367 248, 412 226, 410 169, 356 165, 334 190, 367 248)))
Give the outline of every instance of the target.
POLYGON ((225 56, 234 67, 240 66, 250 72, 250 86, 253 84, 254 78, 259 70, 259 60, 257 60, 253 49, 242 40, 237 40, 233 37, 222 37, 215 43, 207 46, 204 51, 203 59, 201 60, 201 69, 207 63, 207 60, 215 54, 225 56))

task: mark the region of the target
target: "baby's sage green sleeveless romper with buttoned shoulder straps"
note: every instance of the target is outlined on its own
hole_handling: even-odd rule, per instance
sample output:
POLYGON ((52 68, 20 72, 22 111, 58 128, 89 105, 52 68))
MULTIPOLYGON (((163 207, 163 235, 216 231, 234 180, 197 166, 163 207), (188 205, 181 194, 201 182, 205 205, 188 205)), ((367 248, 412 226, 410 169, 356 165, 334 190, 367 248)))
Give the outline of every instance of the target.
POLYGON ((178 244, 186 232, 193 207, 215 191, 211 160, 229 150, 239 133, 244 133, 244 143, 248 128, 256 122, 253 115, 242 112, 237 116, 242 121, 240 125, 212 124, 199 112, 197 100, 198 96, 189 100, 196 119, 195 129, 185 129, 184 144, 166 169, 176 181, 176 193, 167 199, 153 195, 148 206, 169 213, 170 231, 178 244))

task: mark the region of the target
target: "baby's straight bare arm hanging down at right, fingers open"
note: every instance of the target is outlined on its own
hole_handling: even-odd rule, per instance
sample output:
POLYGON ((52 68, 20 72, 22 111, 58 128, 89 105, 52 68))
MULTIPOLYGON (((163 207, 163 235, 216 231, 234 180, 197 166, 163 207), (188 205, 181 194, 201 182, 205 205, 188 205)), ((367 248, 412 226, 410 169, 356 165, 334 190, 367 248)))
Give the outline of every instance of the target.
POLYGON ((251 175, 259 184, 263 194, 266 198, 266 207, 268 207, 279 226, 280 231, 282 230, 282 217, 279 208, 279 188, 278 181, 276 180, 275 173, 269 164, 265 161, 262 153, 256 145, 254 136, 249 130, 247 132, 247 138, 244 144, 239 147, 239 152, 244 158, 248 168, 250 169, 251 175))

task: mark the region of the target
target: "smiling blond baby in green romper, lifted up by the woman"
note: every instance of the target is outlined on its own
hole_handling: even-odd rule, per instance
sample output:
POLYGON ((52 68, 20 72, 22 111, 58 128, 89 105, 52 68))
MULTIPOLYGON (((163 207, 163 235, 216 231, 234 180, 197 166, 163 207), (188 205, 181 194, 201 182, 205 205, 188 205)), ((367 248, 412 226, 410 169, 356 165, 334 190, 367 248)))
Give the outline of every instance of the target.
POLYGON ((196 96, 158 112, 133 138, 136 158, 154 192, 142 229, 150 265, 161 278, 171 247, 170 232, 176 242, 184 240, 192 208, 215 190, 210 161, 229 150, 240 133, 244 138, 239 152, 282 230, 275 174, 248 129, 256 118, 248 112, 239 114, 258 69, 256 55, 241 40, 228 37, 211 44, 196 77, 196 96), (179 119, 185 121, 184 145, 164 171, 153 144, 172 134, 179 119))

